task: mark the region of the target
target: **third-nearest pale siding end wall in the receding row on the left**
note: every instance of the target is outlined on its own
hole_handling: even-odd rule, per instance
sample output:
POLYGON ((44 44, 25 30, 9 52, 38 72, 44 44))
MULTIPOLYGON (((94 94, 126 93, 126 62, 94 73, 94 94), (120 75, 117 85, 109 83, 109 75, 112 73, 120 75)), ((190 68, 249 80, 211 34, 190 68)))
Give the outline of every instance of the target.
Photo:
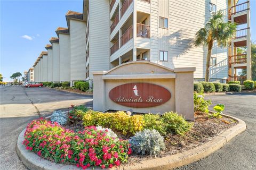
POLYGON ((70 41, 69 35, 59 35, 60 81, 70 81, 70 41))

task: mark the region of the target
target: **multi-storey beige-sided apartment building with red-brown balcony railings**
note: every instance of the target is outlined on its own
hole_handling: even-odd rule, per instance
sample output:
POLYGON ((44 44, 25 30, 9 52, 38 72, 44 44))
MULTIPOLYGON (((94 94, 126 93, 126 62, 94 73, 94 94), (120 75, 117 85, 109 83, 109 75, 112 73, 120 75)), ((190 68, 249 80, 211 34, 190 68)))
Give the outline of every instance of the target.
POLYGON ((36 81, 88 80, 92 84, 92 72, 108 71, 130 61, 153 62, 171 69, 196 67, 194 78, 203 80, 207 47, 195 47, 193 41, 195 33, 218 10, 223 11, 227 22, 240 21, 238 18, 246 13, 247 33, 233 40, 229 48, 214 43, 211 81, 241 79, 235 78, 236 69, 241 68, 247 69, 246 79, 250 80, 250 3, 243 3, 247 8, 242 10, 238 4, 236 0, 84 0, 83 13, 68 11, 67 28, 55 30, 58 38, 50 39, 47 62, 42 61, 43 55, 35 62, 36 81), (237 65, 236 48, 244 46, 237 42, 245 39, 246 62, 237 65), (46 74, 39 72, 45 73, 46 68, 44 78, 46 74))

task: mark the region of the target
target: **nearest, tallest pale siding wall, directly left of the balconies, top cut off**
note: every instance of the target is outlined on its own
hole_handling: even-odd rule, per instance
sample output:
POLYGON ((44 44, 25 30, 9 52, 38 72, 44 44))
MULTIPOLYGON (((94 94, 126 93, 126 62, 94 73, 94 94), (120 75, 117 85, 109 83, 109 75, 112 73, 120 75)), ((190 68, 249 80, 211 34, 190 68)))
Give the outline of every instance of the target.
POLYGON ((109 1, 89 1, 89 8, 89 72, 92 79, 93 71, 109 70, 109 1))

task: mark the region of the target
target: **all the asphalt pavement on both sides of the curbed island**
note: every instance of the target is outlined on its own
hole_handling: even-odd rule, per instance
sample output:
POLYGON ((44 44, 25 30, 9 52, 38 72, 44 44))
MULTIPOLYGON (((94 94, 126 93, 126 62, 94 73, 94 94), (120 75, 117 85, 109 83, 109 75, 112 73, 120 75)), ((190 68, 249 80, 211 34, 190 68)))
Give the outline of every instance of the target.
MULTIPOLYGON (((0 87, 0 94, 0 169, 27 169, 20 162, 15 145, 31 120, 55 109, 68 109, 71 104, 92 106, 91 96, 46 88, 0 87)), ((205 98, 212 100, 212 106, 225 104, 225 114, 241 118, 247 130, 211 156, 177 169, 256 169, 256 94, 205 98)))

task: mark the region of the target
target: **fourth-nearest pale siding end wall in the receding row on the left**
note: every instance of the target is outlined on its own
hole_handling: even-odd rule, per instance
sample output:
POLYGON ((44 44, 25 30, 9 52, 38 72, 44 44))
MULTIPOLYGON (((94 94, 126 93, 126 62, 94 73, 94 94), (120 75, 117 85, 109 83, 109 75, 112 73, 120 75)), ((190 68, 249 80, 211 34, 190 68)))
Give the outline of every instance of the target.
POLYGON ((60 45, 59 43, 52 43, 53 51, 53 81, 60 81, 60 45))

